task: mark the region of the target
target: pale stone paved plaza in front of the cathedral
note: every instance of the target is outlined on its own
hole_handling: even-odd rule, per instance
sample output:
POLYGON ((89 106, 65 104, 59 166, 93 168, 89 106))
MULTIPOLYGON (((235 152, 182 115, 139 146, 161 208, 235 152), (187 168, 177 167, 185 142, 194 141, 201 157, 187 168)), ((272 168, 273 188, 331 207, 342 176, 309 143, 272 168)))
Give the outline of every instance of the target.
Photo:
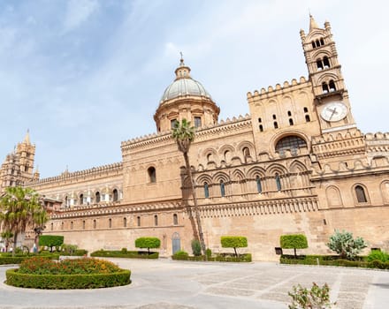
POLYGON ((110 259, 132 270, 133 283, 99 290, 31 290, 4 284, 0 308, 287 308, 298 283, 331 287, 336 308, 388 308, 389 272, 355 268, 110 259))

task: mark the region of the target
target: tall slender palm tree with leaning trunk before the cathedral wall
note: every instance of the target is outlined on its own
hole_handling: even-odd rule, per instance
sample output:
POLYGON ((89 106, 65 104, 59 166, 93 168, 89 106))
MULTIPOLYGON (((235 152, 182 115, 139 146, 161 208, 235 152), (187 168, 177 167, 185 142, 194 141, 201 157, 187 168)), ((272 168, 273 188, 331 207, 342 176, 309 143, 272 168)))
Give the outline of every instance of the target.
POLYGON ((202 233, 202 222, 200 221, 200 212, 197 204, 196 192, 195 192, 195 184, 192 176, 192 169, 189 164, 189 156, 187 155, 189 152, 190 144, 195 139, 195 127, 190 125, 190 121, 187 119, 182 119, 182 122, 176 122, 172 129, 172 138, 176 140, 177 146, 179 147, 179 151, 184 155, 185 166, 187 168, 187 176, 190 181, 190 188, 193 196, 193 202, 195 205, 195 216, 198 234, 200 238, 200 244, 202 245, 202 253, 205 254, 205 242, 204 235, 202 233))

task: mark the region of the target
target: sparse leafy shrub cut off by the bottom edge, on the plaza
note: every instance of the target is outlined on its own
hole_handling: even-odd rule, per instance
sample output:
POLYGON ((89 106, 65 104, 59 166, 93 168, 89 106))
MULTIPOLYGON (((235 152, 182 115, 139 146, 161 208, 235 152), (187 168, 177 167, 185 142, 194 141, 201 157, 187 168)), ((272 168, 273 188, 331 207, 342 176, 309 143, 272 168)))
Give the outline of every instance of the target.
POLYGON ((317 283, 313 283, 312 288, 301 287, 300 284, 293 287, 293 292, 287 293, 292 298, 292 304, 289 309, 312 309, 312 308, 331 308, 330 287, 324 283, 320 288, 317 283))

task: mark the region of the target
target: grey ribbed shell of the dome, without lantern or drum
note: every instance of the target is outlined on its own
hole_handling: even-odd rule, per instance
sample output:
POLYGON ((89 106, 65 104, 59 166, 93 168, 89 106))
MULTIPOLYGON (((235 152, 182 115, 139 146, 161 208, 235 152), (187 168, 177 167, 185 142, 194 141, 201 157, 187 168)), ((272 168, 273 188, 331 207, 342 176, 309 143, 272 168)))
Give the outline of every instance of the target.
POLYGON ((166 88, 161 101, 172 100, 179 96, 205 96, 210 98, 210 94, 205 90, 200 82, 195 79, 176 79, 166 88))

